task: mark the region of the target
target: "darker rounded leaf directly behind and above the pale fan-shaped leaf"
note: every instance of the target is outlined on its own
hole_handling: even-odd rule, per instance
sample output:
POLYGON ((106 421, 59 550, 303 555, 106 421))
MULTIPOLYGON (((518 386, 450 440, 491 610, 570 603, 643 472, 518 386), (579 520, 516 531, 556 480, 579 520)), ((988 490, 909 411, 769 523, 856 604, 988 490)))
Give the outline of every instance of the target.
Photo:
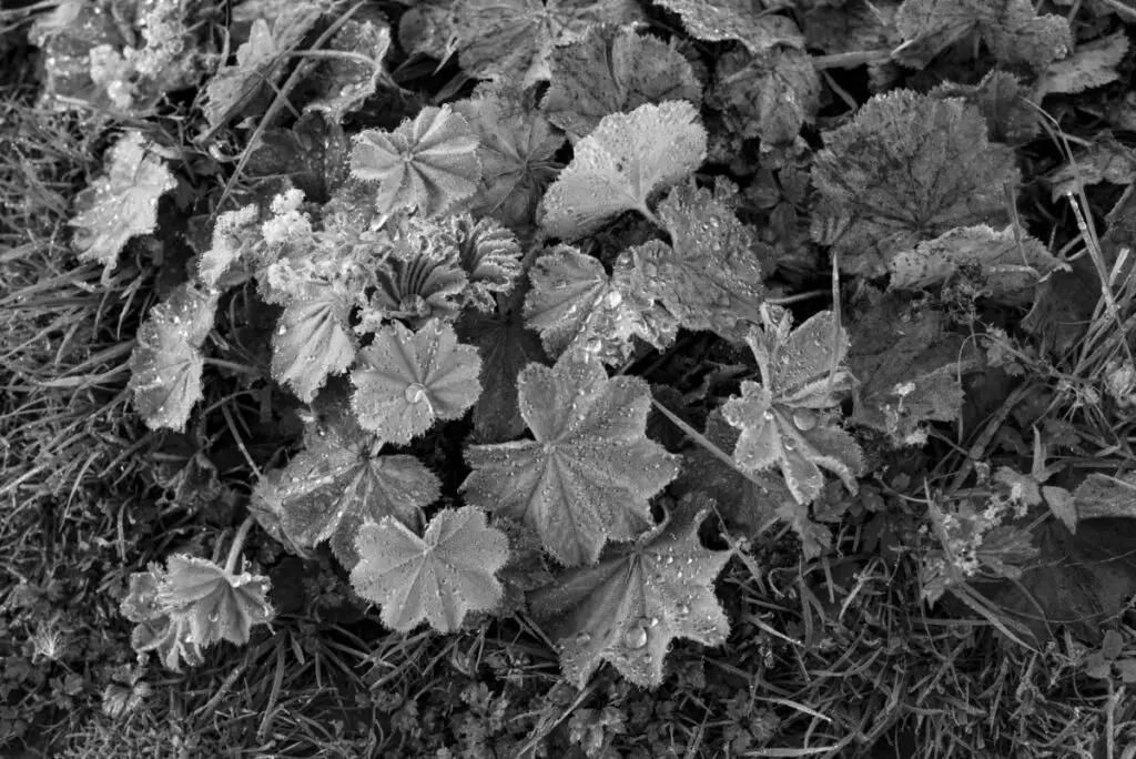
POLYGON ((577 142, 609 114, 665 100, 702 102, 702 86, 690 61, 633 27, 598 26, 552 53, 552 85, 541 107, 577 142))

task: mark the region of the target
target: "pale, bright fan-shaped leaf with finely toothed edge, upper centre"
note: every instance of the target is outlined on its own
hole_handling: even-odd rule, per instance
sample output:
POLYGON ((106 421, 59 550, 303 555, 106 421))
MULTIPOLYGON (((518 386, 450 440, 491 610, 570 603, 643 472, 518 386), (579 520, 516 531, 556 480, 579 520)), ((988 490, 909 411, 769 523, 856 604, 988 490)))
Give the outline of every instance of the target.
POLYGON ((605 116, 545 193, 541 226, 570 241, 624 211, 652 218, 648 197, 690 176, 705 153, 707 132, 685 100, 605 116))

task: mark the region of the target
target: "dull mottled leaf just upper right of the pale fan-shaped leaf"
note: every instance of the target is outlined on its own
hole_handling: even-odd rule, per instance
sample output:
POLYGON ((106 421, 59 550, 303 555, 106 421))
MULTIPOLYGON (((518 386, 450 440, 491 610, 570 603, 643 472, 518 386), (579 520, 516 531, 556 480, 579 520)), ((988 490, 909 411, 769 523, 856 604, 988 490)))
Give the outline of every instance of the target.
POLYGON ((732 50, 718 59, 707 105, 725 112, 732 132, 762 147, 787 145, 813 120, 820 92, 820 74, 803 50, 732 50))

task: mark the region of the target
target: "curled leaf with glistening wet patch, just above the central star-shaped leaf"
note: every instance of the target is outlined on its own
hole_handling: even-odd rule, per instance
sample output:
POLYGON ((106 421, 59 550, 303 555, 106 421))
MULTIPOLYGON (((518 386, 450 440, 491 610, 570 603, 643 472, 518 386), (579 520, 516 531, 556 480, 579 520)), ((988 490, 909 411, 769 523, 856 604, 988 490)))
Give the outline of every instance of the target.
POLYGON ((558 245, 536 259, 528 276, 525 322, 552 357, 582 350, 621 364, 636 336, 660 350, 674 342, 677 323, 642 297, 649 291, 636 287, 626 260, 609 277, 595 258, 558 245))

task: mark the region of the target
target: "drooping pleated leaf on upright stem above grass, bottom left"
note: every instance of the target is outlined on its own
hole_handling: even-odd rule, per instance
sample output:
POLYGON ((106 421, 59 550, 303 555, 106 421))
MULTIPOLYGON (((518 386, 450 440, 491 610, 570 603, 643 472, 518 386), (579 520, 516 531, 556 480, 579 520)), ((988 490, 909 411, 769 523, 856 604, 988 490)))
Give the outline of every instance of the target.
POLYGON ((190 639, 204 648, 219 641, 249 642, 253 625, 273 617, 268 577, 232 574, 208 559, 175 553, 158 583, 158 604, 187 620, 190 639))

